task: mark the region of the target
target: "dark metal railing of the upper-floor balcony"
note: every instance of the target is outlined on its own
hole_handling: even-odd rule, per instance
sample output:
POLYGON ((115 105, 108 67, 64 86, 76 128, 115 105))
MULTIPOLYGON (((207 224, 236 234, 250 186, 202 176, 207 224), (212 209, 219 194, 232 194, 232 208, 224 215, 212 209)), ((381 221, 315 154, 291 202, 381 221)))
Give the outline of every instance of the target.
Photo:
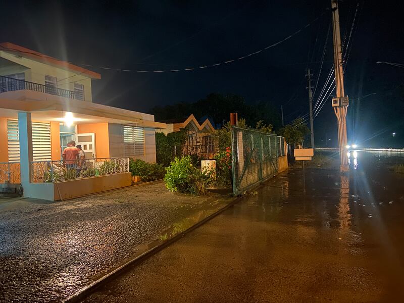
POLYGON ((50 93, 53 95, 71 99, 80 99, 78 96, 75 95, 74 91, 72 90, 0 76, 0 92, 22 90, 22 89, 50 93))

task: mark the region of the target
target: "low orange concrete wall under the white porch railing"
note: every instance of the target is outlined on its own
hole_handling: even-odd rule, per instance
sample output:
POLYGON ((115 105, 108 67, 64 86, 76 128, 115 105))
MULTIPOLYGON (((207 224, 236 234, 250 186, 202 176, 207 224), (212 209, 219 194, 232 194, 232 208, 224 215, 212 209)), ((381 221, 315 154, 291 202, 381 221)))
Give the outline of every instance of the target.
POLYGON ((54 185, 54 200, 70 199, 82 195, 103 192, 111 189, 122 188, 132 184, 132 174, 111 174, 83 178, 65 182, 58 182, 54 185))

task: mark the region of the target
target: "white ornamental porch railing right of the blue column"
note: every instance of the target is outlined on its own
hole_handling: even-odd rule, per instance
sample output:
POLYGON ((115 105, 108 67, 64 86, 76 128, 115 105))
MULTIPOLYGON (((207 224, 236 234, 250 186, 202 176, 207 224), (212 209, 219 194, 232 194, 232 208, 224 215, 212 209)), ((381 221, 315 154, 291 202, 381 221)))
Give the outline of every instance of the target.
POLYGON ((129 172, 129 158, 31 162, 32 183, 56 183, 129 172))

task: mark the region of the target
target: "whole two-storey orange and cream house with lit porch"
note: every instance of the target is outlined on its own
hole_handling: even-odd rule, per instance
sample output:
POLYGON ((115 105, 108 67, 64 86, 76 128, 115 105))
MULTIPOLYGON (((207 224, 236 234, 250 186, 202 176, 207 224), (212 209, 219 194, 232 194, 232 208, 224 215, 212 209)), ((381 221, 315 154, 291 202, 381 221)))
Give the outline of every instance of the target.
POLYGON ((0 43, 0 183, 21 179, 24 196, 57 200, 130 184, 129 157, 156 162, 155 131, 166 124, 93 103, 91 82, 100 78, 0 43), (61 154, 70 140, 81 144, 95 178, 66 180, 61 154))

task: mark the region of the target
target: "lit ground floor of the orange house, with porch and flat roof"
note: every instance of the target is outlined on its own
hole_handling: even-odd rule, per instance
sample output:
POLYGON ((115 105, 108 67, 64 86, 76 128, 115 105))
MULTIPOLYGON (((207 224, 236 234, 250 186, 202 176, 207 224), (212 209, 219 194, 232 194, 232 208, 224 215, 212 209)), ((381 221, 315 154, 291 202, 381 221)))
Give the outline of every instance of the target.
POLYGON ((25 197, 59 200, 129 186, 129 158, 156 161, 155 129, 165 125, 153 116, 59 96, 35 101, 35 94, 0 94, 0 183, 20 183, 25 197), (70 140, 85 153, 80 170, 62 160, 70 140))

